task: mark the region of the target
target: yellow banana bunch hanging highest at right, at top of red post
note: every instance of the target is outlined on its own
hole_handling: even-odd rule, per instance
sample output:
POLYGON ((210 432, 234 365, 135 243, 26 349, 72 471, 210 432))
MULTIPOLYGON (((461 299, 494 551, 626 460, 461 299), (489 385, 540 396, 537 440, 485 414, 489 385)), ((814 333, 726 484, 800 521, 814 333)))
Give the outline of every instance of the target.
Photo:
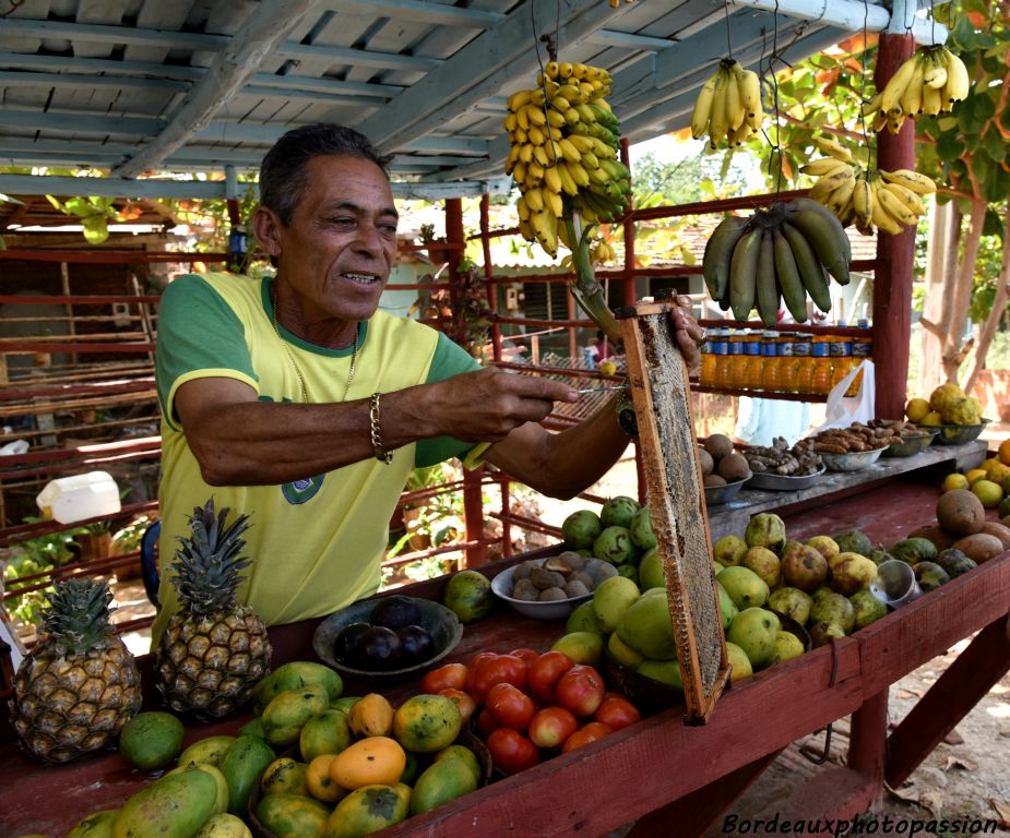
POLYGON ((867 118, 876 113, 874 130, 896 134, 905 117, 935 117, 951 110, 967 96, 972 83, 964 62, 942 44, 919 47, 898 68, 884 88, 863 108, 867 118))

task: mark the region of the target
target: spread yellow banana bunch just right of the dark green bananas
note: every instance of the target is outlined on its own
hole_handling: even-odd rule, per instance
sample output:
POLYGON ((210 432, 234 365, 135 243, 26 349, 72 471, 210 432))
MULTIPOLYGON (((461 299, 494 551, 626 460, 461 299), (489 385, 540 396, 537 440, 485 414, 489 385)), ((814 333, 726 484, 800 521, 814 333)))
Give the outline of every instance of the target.
POLYGON ((915 227, 926 213, 919 195, 936 191, 932 180, 917 171, 865 170, 834 157, 811 160, 799 170, 817 178, 810 197, 834 213, 843 227, 855 224, 865 236, 876 229, 894 236, 903 225, 915 227))

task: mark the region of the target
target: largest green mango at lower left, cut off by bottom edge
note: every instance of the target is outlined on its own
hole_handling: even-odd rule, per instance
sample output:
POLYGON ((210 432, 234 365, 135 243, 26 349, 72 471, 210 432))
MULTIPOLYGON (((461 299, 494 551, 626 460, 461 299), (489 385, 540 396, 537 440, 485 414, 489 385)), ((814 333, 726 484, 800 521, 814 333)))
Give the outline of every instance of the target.
POLYGON ((206 771, 166 774, 123 803, 112 838, 192 838, 216 801, 217 783, 206 771))

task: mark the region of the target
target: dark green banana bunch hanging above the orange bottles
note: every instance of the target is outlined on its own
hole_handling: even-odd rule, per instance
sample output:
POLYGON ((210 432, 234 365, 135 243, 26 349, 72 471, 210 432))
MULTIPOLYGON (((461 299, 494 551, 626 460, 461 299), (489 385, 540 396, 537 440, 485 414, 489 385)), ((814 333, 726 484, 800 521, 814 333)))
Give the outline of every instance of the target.
POLYGON ((807 321, 807 297, 831 310, 829 274, 848 284, 852 248, 841 222, 808 197, 776 202, 750 218, 727 216, 702 258, 705 287, 723 311, 746 321, 752 309, 765 325, 784 302, 797 323, 807 321))

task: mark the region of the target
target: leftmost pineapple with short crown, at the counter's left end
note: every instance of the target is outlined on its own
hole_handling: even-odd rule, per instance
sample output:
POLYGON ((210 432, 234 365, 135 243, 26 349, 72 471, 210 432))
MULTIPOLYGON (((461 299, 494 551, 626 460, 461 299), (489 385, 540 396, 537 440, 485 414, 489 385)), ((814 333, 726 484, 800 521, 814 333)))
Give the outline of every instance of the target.
POLYGON ((140 709, 140 675, 109 623, 105 583, 67 579, 47 600, 38 643, 14 677, 11 720, 27 751, 66 763, 115 745, 140 709))

